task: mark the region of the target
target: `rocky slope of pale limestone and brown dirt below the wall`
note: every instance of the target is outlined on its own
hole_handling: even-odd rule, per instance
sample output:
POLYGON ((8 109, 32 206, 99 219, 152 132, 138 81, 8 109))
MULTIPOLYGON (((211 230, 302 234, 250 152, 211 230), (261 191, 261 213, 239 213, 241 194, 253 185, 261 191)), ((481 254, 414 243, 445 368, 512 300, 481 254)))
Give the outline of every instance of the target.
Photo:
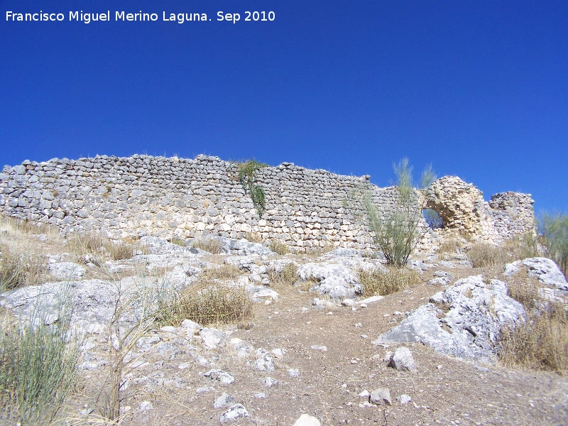
MULTIPOLYGON (((507 296, 510 276, 528 271, 545 297, 564 298, 568 285, 545 259, 481 269, 463 253, 419 256, 410 262, 419 284, 364 300, 356 271, 383 266, 354 250, 279 256, 226 239, 223 253, 212 255, 145 237, 148 253, 96 266, 89 258, 80 264, 46 236, 30 238, 50 254, 50 271, 60 280, 4 293, 1 305, 28 315, 38 295, 48 295, 44 307, 52 316, 45 318, 55 321, 49 295, 71 284, 72 324, 85 338, 69 424, 95 422, 99 414, 117 298, 134 300, 141 288, 164 283, 184 288, 222 264, 240 269, 227 284, 246 286, 256 300, 253 318, 209 327, 185 321, 137 339, 123 363, 125 425, 568 422, 564 376, 504 368, 494 353, 500 327, 525 316, 507 296), (297 264, 300 285, 271 282, 268 272, 287 263, 297 264)), ((143 309, 139 301, 131 307, 121 318, 124 329, 143 309)))

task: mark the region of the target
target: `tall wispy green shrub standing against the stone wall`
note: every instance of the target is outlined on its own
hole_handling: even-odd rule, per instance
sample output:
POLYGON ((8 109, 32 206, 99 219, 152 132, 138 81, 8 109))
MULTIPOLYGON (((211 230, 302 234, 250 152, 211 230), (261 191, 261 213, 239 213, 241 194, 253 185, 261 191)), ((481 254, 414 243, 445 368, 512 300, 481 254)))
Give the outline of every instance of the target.
POLYGON ((393 210, 382 212, 373 204, 372 193, 364 197, 366 222, 371 228, 371 236, 376 246, 383 252, 388 265, 406 264, 408 256, 416 247, 420 236, 419 224, 422 219, 422 209, 425 203, 423 190, 435 180, 431 167, 422 173, 420 189, 413 187, 413 168, 408 158, 394 165, 397 178, 393 210))

